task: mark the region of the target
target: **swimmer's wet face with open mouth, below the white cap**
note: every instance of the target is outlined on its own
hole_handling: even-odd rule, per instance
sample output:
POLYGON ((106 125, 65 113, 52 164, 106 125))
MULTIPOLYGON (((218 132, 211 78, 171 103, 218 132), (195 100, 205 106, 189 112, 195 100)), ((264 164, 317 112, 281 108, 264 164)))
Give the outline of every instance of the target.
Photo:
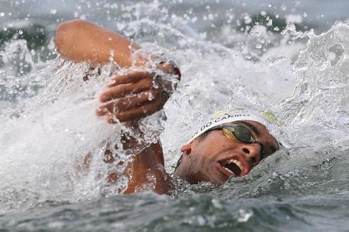
POLYGON ((255 121, 241 121, 253 139, 263 144, 243 144, 225 136, 222 130, 207 132, 203 139, 195 139, 181 148, 184 153, 174 172, 191 184, 207 181, 221 184, 230 176, 245 176, 262 160, 279 150, 279 143, 269 134, 267 127, 255 121))

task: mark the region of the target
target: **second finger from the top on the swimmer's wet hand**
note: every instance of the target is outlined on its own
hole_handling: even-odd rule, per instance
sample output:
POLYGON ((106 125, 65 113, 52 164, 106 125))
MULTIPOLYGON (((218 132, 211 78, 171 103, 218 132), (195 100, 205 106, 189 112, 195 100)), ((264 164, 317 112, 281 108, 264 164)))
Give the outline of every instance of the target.
POLYGON ((119 86, 110 87, 101 94, 100 101, 107 102, 116 98, 122 98, 125 95, 132 93, 140 93, 145 90, 149 90, 153 86, 153 79, 146 78, 141 79, 135 84, 121 84, 119 86))

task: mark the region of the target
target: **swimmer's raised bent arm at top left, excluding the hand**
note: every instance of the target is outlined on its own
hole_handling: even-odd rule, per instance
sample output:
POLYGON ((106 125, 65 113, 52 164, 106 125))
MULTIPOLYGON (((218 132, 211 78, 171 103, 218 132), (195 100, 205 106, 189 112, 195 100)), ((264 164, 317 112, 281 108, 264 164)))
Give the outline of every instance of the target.
MULTIPOLYGON (((60 24, 56 31, 55 45, 64 59, 75 63, 86 61, 98 65, 110 63, 110 59, 113 59, 121 68, 128 68, 131 65, 142 66, 148 59, 137 56, 132 63, 132 54, 140 46, 114 31, 84 20, 60 24)), ((174 75, 179 72, 177 67, 168 62, 159 64, 158 68, 174 75)))

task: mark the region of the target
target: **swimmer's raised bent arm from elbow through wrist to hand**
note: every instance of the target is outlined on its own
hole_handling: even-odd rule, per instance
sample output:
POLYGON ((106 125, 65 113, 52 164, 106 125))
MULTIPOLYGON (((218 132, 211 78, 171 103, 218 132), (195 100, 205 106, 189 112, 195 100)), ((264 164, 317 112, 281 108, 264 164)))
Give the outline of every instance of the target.
MULTIPOLYGON (((109 63, 112 57, 121 68, 128 68, 131 65, 142 67, 148 59, 156 59, 160 60, 156 62, 158 70, 172 74, 177 79, 181 76, 174 63, 161 61, 156 56, 139 55, 132 62, 132 53, 140 49, 140 46, 118 33, 83 20, 60 24, 55 43, 61 56, 73 62, 85 61, 98 65, 109 63)), ((153 88, 156 81, 154 76, 154 71, 140 69, 126 70, 112 77, 112 83, 101 93, 100 100, 103 105, 98 108, 97 115, 104 116, 110 123, 114 123, 114 118, 126 122, 138 120, 162 109, 175 85, 162 82, 161 88, 153 88)))

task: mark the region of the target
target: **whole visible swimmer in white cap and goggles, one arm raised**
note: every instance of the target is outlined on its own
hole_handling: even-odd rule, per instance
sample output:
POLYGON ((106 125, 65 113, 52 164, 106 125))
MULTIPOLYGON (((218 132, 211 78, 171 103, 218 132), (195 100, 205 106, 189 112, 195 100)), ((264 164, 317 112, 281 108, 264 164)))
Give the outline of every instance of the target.
MULTIPOLYGON (((156 55, 134 56, 140 47, 131 40, 83 20, 60 24, 55 45, 64 59, 87 61, 96 66, 110 63, 112 56, 119 67, 126 70, 111 78, 112 82, 100 95, 101 106, 96 114, 108 123, 124 123, 141 136, 138 120, 161 110, 181 78, 179 68, 170 59, 156 55), (155 63, 156 73, 172 75, 172 81, 149 70, 149 60, 155 63), (154 83, 158 88, 154 88, 154 83)), ((205 181, 216 185, 232 176, 247 175, 261 160, 279 150, 278 141, 266 125, 266 118, 255 112, 219 112, 181 147, 181 157, 173 175, 191 184, 205 181)), ((140 145, 123 132, 121 142, 124 149, 134 151, 133 161, 124 172, 128 178, 124 193, 132 194, 151 185, 158 194, 170 194, 174 185, 171 175, 164 169, 160 141, 140 145), (147 178, 149 176, 152 178, 147 178)), ((114 162, 110 150, 105 151, 104 160, 114 162)), ((117 174, 110 173, 107 181, 112 183, 117 178, 117 174)))

